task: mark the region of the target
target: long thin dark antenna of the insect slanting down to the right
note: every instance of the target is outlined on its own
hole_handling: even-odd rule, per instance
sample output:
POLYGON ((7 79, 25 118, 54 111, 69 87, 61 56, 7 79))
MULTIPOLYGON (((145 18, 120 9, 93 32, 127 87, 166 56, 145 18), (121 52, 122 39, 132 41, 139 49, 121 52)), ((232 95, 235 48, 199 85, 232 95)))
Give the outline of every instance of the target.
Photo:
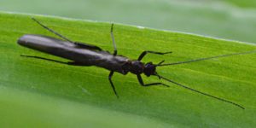
POLYGON ((217 100, 219 100, 219 101, 228 102, 228 103, 230 103, 230 104, 235 105, 235 106, 238 107, 238 108, 245 109, 245 108, 243 108, 241 105, 239 105, 239 104, 237 104, 237 103, 235 103, 235 102, 230 102, 230 101, 225 100, 225 99, 223 99, 223 98, 219 98, 219 97, 217 97, 217 96, 212 96, 212 95, 207 94, 207 93, 205 93, 205 92, 201 92, 201 91, 199 91, 199 90, 195 90, 195 89, 189 88, 189 87, 187 87, 187 86, 185 86, 185 85, 183 85, 183 84, 178 84, 177 82, 172 81, 171 79, 166 79, 165 77, 162 77, 162 76, 160 76, 159 74, 154 74, 154 75, 158 76, 160 79, 165 79, 165 80, 168 81, 168 82, 171 82, 171 83, 173 83, 173 84, 177 84, 178 86, 181 86, 181 87, 183 87, 183 88, 185 88, 185 89, 187 89, 187 90, 191 90, 191 91, 200 93, 201 95, 204 95, 204 96, 210 96, 210 97, 215 98, 215 99, 217 99, 217 100))

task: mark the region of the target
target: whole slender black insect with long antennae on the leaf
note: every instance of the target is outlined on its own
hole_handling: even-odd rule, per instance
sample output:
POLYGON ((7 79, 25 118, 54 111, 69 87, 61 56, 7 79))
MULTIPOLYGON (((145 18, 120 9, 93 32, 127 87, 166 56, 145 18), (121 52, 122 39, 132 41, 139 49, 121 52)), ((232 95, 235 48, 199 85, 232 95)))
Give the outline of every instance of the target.
POLYGON ((213 57, 195 59, 195 60, 191 60, 191 61, 181 61, 181 62, 166 63, 166 64, 163 63, 164 61, 160 61, 158 64, 153 64, 151 61, 149 61, 147 63, 143 63, 142 59, 148 53, 156 54, 156 55, 165 55, 165 54, 170 54, 172 52, 143 51, 143 53, 141 55, 139 55, 137 60, 130 60, 125 56, 117 55, 117 49, 116 49, 116 45, 114 43, 114 38, 113 38, 113 24, 111 25, 110 33, 111 33, 111 38, 113 40, 114 50, 113 50, 113 54, 110 54, 108 51, 102 50, 101 48, 99 48, 95 45, 73 42, 73 41, 69 40, 68 38, 65 38, 61 34, 53 31, 49 27, 44 26, 38 20, 36 20, 34 18, 32 18, 32 20, 36 21, 40 26, 43 26, 49 32, 53 32, 55 35, 62 38, 63 40, 57 39, 57 38, 50 38, 50 37, 42 36, 42 35, 26 34, 26 35, 22 36, 21 38, 19 38, 18 44, 25 46, 27 48, 30 48, 30 49, 36 49, 36 50, 42 51, 42 52, 50 54, 50 55, 60 56, 62 58, 66 58, 71 61, 69 61, 69 62, 55 61, 52 59, 47 59, 44 57, 32 56, 32 55, 21 55, 21 56, 43 59, 46 61, 55 61, 58 63, 73 65, 73 66, 96 66, 96 67, 106 68, 110 71, 110 73, 108 75, 108 79, 113 88, 113 92, 117 97, 118 97, 118 94, 117 94, 117 92, 114 88, 113 82, 112 82, 112 76, 113 76, 114 72, 122 73, 124 75, 129 72, 134 73, 137 75, 138 82, 143 86, 164 85, 166 87, 169 87, 169 85, 163 84, 160 82, 144 84, 143 79, 141 77, 141 74, 144 73, 148 77, 153 75, 153 76, 158 77, 159 79, 165 79, 166 81, 169 81, 173 84, 177 84, 185 89, 195 91, 195 92, 200 93, 205 96, 210 96, 210 97, 218 99, 222 102, 231 103, 231 104, 235 105, 236 107, 244 109, 243 107, 241 107, 241 105, 239 105, 235 102, 230 102, 223 98, 219 98, 217 96, 212 96, 207 93, 201 92, 199 90, 191 89, 183 84, 178 84, 177 82, 172 81, 171 79, 166 79, 165 77, 160 76, 156 72, 156 67, 178 65, 178 64, 189 63, 189 62, 194 62, 194 61, 203 61, 203 60, 209 60, 209 59, 213 59, 213 58, 226 57, 226 56, 231 56, 231 55, 244 55, 244 54, 253 53, 255 51, 247 51, 247 52, 234 53, 234 54, 229 54, 229 55, 218 55, 218 56, 213 56, 213 57))

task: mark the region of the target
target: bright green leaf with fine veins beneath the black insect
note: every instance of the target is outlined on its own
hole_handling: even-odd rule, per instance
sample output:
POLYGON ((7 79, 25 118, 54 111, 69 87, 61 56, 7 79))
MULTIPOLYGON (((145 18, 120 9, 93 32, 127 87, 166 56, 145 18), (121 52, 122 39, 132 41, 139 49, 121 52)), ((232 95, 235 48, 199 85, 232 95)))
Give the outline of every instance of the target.
MULTIPOLYGON (((74 41, 113 51, 110 24, 43 15, 0 13, 0 125, 1 127, 253 127, 256 125, 256 55, 236 55, 211 61, 158 67, 166 78, 195 90, 241 104, 226 102, 171 85, 142 87, 133 74, 114 73, 117 99, 100 67, 72 67, 20 55, 67 61, 26 49, 16 43, 24 34, 55 37, 31 20, 74 41)), ((195 58, 255 50, 253 44, 164 32, 115 24, 119 55, 136 59, 143 50, 172 51, 147 55, 144 62, 187 61, 195 58)), ((57 37, 55 37, 57 38, 57 37)))

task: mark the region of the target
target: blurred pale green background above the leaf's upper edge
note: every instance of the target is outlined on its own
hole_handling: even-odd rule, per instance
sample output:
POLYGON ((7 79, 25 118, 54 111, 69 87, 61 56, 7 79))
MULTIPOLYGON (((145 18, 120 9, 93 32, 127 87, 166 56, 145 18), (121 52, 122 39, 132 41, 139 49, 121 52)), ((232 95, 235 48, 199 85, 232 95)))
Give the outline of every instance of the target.
POLYGON ((256 43, 255 0, 1 0, 0 10, 113 21, 256 43))

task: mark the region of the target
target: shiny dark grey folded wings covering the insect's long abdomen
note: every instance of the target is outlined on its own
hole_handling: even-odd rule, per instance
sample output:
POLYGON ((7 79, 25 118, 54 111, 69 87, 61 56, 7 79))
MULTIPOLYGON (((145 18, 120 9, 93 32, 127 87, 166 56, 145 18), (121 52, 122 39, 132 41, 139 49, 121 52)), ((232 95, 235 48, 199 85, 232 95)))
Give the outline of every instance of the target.
POLYGON ((41 35, 24 35, 19 38, 18 44, 50 55, 76 61, 84 66, 103 67, 110 71, 127 73, 123 70, 123 65, 125 65, 128 59, 119 55, 111 55, 107 51, 81 49, 77 48, 73 43, 41 35))

